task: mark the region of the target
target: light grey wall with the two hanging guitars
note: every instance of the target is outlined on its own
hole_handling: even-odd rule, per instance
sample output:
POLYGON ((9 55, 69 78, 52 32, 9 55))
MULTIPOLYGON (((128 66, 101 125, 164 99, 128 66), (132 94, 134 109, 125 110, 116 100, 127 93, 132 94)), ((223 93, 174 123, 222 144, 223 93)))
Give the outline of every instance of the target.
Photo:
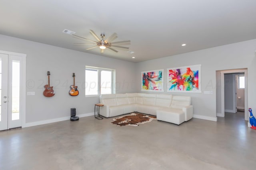
POLYGON ((116 69, 116 93, 136 91, 135 64, 131 62, 5 35, 0 35, 0 50, 27 54, 26 92, 35 92, 36 95, 26 96, 26 123, 70 116, 70 108, 73 107, 77 115, 94 112, 94 104, 99 102, 99 97, 86 98, 84 95, 85 65, 116 69), (44 85, 48 84, 48 70, 51 73, 50 85, 55 91, 51 98, 42 94, 44 85), (73 72, 80 93, 78 96, 68 94, 73 84, 73 72))

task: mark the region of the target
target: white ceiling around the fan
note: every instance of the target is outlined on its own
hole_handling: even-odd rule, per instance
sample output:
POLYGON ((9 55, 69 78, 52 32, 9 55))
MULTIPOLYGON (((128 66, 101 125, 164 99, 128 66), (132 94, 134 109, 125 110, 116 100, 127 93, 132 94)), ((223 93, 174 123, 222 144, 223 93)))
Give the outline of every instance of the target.
POLYGON ((0 34, 140 62, 256 39, 256 0, 1 0, 0 34), (116 32, 135 53, 86 51, 64 29, 92 40, 89 29, 116 32))

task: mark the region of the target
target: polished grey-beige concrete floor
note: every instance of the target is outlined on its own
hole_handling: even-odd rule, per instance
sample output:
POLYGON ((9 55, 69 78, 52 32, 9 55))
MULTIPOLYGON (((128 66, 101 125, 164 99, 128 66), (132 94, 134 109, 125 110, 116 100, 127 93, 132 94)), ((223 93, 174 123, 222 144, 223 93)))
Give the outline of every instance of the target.
POLYGON ((90 116, 2 131, 0 170, 255 170, 256 130, 243 118, 117 127, 90 116))

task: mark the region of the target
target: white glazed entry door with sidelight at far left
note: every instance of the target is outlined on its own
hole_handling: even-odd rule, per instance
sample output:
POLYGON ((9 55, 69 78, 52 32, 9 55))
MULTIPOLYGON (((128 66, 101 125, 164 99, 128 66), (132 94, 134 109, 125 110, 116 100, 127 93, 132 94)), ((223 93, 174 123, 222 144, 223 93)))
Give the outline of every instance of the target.
POLYGON ((1 52, 0 130, 6 130, 22 126, 22 56, 1 52))

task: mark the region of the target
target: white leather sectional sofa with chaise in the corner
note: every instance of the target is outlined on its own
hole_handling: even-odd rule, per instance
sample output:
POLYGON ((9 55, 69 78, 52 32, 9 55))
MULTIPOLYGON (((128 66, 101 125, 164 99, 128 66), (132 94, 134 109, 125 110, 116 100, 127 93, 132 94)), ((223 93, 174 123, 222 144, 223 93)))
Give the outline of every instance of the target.
POLYGON ((156 115, 160 121, 180 125, 193 117, 190 96, 172 96, 169 94, 103 94, 100 96, 100 115, 114 117, 126 113, 139 112, 156 115))

